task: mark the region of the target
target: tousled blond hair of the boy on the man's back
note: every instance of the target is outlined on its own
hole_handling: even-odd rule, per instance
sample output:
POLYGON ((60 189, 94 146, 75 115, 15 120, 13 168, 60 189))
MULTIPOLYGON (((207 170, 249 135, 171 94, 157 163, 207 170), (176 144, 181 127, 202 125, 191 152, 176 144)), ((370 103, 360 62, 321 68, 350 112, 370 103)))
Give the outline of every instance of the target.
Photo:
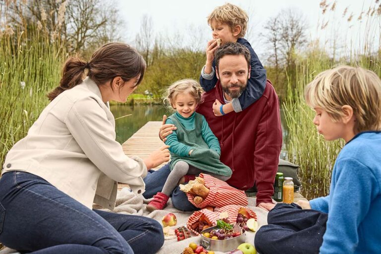
POLYGON ((210 13, 208 16, 209 25, 212 20, 227 24, 232 31, 235 26, 241 26, 241 32, 238 35, 238 38, 243 38, 248 27, 249 16, 237 5, 225 3, 224 5, 217 6, 212 13, 210 13))

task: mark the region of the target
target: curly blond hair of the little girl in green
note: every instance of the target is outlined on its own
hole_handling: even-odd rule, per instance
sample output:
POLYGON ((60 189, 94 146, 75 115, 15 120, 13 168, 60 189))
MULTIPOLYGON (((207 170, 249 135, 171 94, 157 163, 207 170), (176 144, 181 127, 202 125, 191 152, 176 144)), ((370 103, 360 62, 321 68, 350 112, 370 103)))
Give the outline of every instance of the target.
POLYGON ((201 101, 201 94, 203 90, 200 84, 191 78, 181 79, 171 84, 164 92, 164 104, 173 109, 172 105, 175 105, 176 97, 180 93, 189 93, 198 104, 201 101))

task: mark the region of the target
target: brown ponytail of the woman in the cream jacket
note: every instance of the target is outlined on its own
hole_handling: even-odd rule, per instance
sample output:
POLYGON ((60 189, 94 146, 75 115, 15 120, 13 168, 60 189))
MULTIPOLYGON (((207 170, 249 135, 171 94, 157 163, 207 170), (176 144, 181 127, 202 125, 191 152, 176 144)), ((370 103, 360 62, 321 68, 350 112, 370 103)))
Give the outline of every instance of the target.
POLYGON ((64 64, 60 86, 48 93, 49 100, 53 101, 60 93, 80 84, 86 68, 90 68, 90 64, 78 56, 68 58, 64 64))

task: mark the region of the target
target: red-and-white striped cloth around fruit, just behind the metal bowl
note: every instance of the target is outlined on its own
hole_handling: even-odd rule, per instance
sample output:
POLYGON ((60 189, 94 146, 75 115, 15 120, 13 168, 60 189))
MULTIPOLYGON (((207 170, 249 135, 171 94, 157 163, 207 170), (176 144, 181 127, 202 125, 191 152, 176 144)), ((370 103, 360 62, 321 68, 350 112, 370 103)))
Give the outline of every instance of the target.
POLYGON ((187 228, 191 230, 191 232, 193 232, 194 234, 199 235, 198 232, 196 232, 195 230, 192 230, 191 225, 193 225, 193 223, 198 221, 198 219, 202 215, 204 215, 206 218, 208 218, 208 220, 212 223, 212 225, 215 226, 217 225, 217 220, 219 219, 221 212, 227 212, 229 215, 228 217, 229 223, 234 224, 237 221, 238 211, 241 208, 245 208, 246 211, 248 211, 248 213, 250 214, 250 218, 254 218, 255 220, 257 220, 256 214, 252 209, 246 206, 233 204, 233 205, 227 205, 221 208, 216 208, 214 211, 211 211, 208 209, 202 209, 202 210, 193 212, 192 215, 188 218, 187 228))

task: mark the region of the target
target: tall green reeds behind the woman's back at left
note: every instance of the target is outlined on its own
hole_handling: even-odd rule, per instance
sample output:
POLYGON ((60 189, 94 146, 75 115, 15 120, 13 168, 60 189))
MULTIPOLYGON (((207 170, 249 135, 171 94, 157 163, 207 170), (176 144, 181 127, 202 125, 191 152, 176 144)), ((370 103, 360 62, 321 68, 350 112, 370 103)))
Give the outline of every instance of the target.
POLYGON ((43 28, 0 35, 0 164, 49 103, 46 94, 60 81, 65 57, 59 40, 43 28))

